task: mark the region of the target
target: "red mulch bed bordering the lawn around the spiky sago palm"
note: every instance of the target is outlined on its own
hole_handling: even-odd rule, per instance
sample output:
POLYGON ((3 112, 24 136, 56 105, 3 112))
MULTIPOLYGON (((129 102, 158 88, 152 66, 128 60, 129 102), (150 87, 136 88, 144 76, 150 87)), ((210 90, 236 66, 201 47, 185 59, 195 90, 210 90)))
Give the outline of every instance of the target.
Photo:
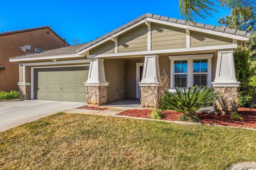
MULTIPOLYGON (((118 115, 150 118, 148 116, 150 113, 151 110, 149 109, 132 109, 119 113, 118 115)), ((250 111, 248 108, 239 108, 238 113, 243 115, 243 121, 231 119, 230 115, 210 115, 208 113, 198 113, 198 117, 204 124, 256 128, 256 109, 252 109, 250 111)), ((178 117, 182 113, 177 113, 175 111, 164 111, 163 114, 166 115, 166 117, 162 118, 162 120, 178 121, 178 117)))

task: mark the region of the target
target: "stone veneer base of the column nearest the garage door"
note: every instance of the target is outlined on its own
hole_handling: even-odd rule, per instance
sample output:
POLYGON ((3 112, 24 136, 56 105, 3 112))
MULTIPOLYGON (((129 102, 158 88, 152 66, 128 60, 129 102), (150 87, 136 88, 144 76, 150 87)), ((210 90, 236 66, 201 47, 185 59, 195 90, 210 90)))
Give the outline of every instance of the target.
POLYGON ((108 99, 106 86, 86 86, 86 103, 102 104, 108 99))

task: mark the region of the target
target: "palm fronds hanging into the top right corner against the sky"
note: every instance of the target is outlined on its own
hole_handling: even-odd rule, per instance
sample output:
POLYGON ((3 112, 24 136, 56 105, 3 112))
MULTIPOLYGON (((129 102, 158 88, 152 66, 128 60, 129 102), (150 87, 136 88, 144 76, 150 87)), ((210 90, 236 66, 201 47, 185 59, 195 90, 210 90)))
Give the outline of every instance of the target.
POLYGON ((188 21, 213 17, 218 8, 232 9, 242 16, 256 16, 256 0, 179 0, 180 15, 188 21))

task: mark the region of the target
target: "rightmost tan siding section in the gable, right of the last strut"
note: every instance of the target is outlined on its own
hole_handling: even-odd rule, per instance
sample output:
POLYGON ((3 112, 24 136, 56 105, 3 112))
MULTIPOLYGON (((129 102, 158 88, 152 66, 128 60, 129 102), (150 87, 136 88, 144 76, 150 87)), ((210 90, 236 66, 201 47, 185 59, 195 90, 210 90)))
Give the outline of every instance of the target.
POLYGON ((204 47, 212 45, 229 45, 232 39, 226 37, 205 34, 202 32, 191 31, 191 47, 204 47))

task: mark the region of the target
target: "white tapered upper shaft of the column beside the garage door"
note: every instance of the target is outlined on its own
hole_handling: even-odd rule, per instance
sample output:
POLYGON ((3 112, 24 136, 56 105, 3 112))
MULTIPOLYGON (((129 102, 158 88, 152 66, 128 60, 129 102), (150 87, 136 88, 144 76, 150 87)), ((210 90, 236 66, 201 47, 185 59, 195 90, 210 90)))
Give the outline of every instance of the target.
POLYGON ((84 83, 86 86, 108 86, 104 70, 104 59, 90 59, 90 68, 88 80, 84 83))

